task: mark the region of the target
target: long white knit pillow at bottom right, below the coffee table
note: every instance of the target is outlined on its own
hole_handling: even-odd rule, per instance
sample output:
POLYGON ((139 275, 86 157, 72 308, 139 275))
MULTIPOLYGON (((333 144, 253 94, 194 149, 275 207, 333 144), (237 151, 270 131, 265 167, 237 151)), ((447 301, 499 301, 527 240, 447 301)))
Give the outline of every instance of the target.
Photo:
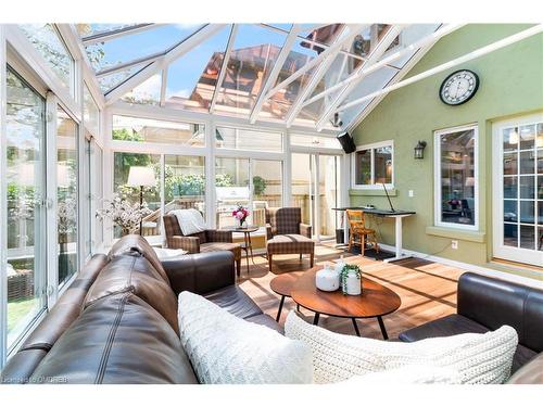
POLYGON ((305 322, 294 311, 287 317, 285 332, 311 346, 316 383, 339 382, 406 365, 452 368, 459 373, 462 383, 503 383, 510 374, 518 343, 517 332, 507 326, 484 334, 386 342, 330 332, 305 322))

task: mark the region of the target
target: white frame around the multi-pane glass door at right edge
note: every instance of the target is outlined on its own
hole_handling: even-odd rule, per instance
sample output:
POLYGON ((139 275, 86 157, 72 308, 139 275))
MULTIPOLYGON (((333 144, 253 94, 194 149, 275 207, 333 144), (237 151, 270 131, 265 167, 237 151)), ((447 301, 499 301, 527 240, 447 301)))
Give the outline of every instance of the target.
MULTIPOLYGON (((503 141, 502 130, 543 122, 543 112, 496 122, 492 125, 492 255, 512 262, 528 263, 539 266, 543 264, 543 252, 523 247, 512 247, 503 244, 503 141)), ((538 152, 540 150, 538 149, 538 152)), ((520 165, 520 163, 519 163, 520 165)), ((539 175, 535 175, 539 177, 539 175)), ((535 181, 536 182, 536 181, 535 181)), ((518 200, 518 199, 517 199, 518 200)), ((538 199, 535 199, 535 205, 538 199)), ((538 226, 539 228, 539 226, 538 226)), ((538 238, 535 238, 538 239, 538 238)))

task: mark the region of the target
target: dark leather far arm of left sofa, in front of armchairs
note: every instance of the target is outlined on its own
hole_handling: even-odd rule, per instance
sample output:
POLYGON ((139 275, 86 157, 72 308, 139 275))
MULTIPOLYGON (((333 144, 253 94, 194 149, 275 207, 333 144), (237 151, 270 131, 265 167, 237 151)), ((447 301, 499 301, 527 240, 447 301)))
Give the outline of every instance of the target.
POLYGON ((227 251, 188 254, 164 260, 162 266, 175 294, 204 294, 236 283, 233 254, 227 251))

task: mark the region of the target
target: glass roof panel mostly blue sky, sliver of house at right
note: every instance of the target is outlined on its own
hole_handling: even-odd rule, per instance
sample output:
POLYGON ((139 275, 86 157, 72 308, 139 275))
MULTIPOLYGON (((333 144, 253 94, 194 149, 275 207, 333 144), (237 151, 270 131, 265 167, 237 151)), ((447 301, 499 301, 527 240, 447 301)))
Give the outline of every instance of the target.
POLYGON ((225 27, 168 66, 165 106, 210 109, 230 33, 231 26, 225 27))

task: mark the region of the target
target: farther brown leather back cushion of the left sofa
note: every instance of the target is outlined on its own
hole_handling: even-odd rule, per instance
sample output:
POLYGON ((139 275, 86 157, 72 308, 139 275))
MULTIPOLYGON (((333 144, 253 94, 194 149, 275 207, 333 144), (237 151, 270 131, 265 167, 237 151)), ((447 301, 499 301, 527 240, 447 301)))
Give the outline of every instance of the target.
POLYGON ((148 257, 139 252, 126 252, 112 257, 90 288, 84 307, 104 296, 127 292, 151 305, 178 332, 177 300, 167 277, 165 281, 148 257))

